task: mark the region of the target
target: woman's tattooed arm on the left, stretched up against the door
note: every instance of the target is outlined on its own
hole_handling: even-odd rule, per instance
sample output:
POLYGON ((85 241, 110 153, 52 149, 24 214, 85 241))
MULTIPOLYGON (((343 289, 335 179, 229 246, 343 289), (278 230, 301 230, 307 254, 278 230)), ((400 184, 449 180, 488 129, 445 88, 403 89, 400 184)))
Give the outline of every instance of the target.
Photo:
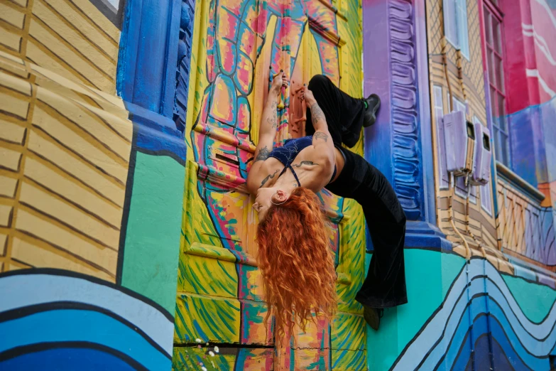
POLYGON ((271 90, 268 92, 268 98, 263 108, 255 158, 247 176, 247 190, 251 194, 256 193, 261 186, 261 180, 268 176, 268 174, 261 172, 261 168, 263 162, 268 158, 273 149, 274 138, 278 129, 278 95, 283 86, 288 86, 288 80, 285 78, 285 73, 281 72, 274 77, 271 90))

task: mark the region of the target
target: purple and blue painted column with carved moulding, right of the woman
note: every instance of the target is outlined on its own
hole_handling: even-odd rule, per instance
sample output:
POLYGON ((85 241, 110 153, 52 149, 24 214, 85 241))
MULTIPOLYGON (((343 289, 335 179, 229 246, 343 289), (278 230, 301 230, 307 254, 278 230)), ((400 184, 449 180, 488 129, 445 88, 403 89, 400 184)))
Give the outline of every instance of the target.
POLYGON ((408 219, 406 245, 450 244, 436 227, 423 0, 363 1, 364 93, 381 97, 365 156, 388 178, 408 219))

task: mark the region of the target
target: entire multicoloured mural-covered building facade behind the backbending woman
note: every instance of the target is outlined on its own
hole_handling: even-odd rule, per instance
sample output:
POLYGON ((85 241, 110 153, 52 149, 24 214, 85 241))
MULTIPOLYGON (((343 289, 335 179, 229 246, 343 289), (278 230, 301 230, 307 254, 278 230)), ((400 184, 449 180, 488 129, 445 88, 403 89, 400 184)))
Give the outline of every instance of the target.
POLYGON ((553 0, 1 0, 0 370, 556 369, 555 34, 553 0), (245 182, 280 70, 278 145, 313 75, 381 97, 353 150, 403 205, 408 303, 378 331, 327 190, 337 314, 264 321, 245 182))

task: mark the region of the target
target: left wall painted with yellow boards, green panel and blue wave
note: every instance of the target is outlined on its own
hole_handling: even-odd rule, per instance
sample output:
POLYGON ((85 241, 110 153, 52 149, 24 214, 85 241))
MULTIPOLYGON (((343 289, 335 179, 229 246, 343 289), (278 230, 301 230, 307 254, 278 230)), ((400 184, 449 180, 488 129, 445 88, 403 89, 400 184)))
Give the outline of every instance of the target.
POLYGON ((0 2, 0 370, 171 367, 185 167, 116 96, 123 9, 0 2))

